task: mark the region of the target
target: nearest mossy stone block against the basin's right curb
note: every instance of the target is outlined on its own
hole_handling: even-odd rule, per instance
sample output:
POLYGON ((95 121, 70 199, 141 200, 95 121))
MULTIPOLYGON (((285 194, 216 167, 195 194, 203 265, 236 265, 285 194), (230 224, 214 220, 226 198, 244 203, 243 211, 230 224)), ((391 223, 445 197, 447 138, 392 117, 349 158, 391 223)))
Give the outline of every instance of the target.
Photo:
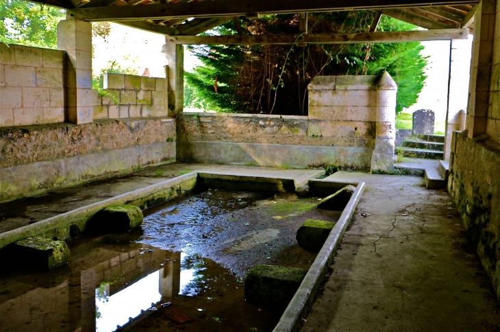
POLYGON ((286 307, 307 270, 276 265, 258 265, 245 279, 245 299, 256 305, 286 307))

